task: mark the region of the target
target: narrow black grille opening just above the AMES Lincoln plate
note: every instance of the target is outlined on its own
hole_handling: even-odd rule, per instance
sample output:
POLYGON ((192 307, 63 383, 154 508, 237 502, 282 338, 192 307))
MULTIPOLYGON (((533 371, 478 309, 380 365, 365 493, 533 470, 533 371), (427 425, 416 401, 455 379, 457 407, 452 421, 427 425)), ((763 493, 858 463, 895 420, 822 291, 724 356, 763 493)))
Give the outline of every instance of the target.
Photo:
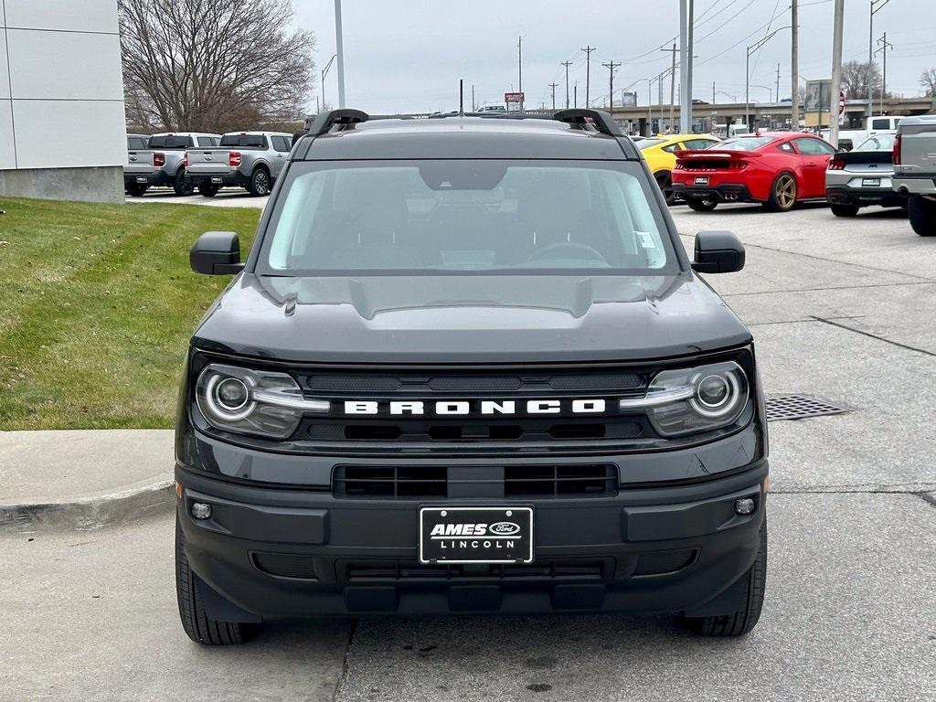
POLYGON ((613 495, 618 468, 613 463, 508 465, 461 468, 447 466, 340 465, 332 478, 336 497, 442 498, 580 498, 613 495), (482 491, 478 491, 482 490, 482 491))

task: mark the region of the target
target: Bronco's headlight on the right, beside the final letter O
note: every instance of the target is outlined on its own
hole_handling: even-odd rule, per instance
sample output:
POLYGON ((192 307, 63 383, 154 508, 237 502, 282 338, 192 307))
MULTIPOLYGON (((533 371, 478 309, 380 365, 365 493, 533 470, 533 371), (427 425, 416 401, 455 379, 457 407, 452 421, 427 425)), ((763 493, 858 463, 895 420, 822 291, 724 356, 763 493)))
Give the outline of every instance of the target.
POLYGON ((642 398, 619 403, 644 410, 661 436, 711 431, 737 421, 748 402, 748 379, 734 361, 657 373, 642 398))

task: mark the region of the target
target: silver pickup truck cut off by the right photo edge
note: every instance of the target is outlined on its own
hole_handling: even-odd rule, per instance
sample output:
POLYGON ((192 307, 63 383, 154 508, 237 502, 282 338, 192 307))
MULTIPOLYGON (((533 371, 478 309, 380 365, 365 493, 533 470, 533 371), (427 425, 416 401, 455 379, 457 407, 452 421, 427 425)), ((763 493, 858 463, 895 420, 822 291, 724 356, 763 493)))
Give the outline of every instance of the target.
POLYGON ((904 117, 894 139, 894 190, 910 197, 910 226, 936 236, 936 115, 904 117))

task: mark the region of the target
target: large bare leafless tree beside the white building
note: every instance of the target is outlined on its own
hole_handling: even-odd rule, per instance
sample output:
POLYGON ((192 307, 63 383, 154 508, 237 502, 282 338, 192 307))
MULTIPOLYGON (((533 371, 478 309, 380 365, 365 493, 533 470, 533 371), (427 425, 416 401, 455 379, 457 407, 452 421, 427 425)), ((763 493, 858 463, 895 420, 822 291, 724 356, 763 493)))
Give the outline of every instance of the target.
POLYGON ((224 132, 301 119, 311 32, 291 0, 118 0, 127 122, 224 132))

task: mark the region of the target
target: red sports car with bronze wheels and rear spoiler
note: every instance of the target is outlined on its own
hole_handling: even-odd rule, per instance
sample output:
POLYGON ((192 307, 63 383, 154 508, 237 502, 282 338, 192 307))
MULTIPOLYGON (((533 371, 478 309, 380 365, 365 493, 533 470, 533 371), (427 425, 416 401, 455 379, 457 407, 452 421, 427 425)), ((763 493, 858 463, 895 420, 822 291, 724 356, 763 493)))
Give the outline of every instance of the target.
POLYGON ((774 212, 826 198, 831 144, 802 132, 764 132, 727 139, 702 151, 682 151, 673 194, 698 212, 719 202, 760 202, 774 212))

